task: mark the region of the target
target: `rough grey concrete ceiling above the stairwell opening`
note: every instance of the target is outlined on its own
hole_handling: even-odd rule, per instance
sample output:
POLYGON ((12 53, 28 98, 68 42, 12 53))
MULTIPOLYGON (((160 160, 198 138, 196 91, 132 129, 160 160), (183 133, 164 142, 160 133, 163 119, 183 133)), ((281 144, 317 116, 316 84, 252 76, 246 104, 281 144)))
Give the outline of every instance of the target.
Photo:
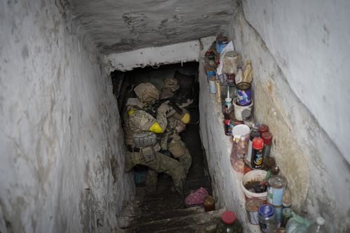
POLYGON ((237 0, 69 0, 104 54, 192 41, 221 32, 237 0))

